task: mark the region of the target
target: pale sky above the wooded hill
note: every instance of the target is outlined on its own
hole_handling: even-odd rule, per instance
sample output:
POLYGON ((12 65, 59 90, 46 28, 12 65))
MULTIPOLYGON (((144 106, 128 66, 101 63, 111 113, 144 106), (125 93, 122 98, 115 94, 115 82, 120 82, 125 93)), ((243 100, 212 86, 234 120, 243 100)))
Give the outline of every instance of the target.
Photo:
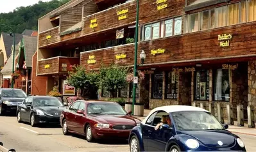
MULTIPOLYGON (((38 3, 39 0, 0 0, 0 13, 8 13, 17 7, 29 6, 38 3)), ((51 0, 41 0, 51 1, 51 0)))

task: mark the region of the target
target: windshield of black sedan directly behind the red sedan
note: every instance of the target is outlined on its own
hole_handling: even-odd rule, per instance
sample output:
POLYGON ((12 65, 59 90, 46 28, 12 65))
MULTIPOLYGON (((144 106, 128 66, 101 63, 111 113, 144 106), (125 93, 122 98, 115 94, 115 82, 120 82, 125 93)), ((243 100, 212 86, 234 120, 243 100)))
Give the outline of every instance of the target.
POLYGON ((58 98, 34 98, 33 100, 34 107, 64 107, 62 102, 58 98))

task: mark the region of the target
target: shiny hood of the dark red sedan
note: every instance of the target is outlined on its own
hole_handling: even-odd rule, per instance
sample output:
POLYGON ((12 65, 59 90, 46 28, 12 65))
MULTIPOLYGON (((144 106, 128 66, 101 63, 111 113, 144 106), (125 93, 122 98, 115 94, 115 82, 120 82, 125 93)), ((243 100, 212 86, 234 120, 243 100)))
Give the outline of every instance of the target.
POLYGON ((96 115, 91 116, 91 118, 95 121, 98 121, 99 123, 136 125, 136 121, 134 118, 124 115, 96 115))

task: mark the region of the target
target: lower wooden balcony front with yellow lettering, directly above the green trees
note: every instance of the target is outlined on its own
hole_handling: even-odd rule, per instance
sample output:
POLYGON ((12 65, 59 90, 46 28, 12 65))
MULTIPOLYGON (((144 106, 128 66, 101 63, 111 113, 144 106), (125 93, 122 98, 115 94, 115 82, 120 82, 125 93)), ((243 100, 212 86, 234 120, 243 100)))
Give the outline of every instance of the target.
POLYGON ((98 50, 81 52, 80 64, 87 70, 99 69, 101 64, 115 63, 120 66, 130 66, 134 62, 134 44, 119 45, 98 50))

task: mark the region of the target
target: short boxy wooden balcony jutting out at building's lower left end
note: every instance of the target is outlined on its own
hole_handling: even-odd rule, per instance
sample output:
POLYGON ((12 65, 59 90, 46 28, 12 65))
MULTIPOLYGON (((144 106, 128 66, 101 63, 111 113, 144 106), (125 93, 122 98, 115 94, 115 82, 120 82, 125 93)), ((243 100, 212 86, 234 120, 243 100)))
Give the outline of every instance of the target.
POLYGON ((71 65, 79 65, 78 57, 51 57, 38 61, 38 75, 67 74, 71 65))

